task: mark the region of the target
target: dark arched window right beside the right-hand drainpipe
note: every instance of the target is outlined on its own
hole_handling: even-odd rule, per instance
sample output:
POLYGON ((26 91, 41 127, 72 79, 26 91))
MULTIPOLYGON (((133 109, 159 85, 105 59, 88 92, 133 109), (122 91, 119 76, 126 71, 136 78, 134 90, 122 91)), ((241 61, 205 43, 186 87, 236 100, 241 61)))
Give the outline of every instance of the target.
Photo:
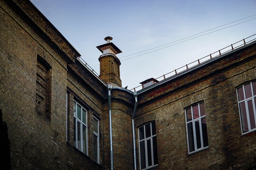
POLYGON ((139 127, 138 134, 140 169, 144 170, 158 165, 155 122, 139 127))

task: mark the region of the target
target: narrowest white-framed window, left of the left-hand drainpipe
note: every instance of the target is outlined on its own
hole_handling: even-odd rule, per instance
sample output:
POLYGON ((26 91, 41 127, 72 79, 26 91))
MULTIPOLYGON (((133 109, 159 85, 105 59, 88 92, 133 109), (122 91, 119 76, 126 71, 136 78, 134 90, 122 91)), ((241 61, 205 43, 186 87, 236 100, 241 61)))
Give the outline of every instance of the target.
POLYGON ((93 159, 100 163, 100 134, 99 134, 99 120, 93 117, 93 159))

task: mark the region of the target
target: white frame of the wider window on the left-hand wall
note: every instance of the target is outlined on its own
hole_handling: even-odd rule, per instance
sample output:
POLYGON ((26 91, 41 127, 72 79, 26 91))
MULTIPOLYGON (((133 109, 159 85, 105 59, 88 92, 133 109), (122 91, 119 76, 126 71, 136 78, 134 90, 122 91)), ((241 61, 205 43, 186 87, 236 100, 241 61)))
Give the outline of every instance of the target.
POLYGON ((75 129, 74 129, 74 131, 75 131, 75 136, 74 136, 74 138, 75 138, 75 147, 79 150, 79 151, 81 151, 82 153, 84 153, 83 152, 83 144, 82 144, 82 126, 84 125, 85 127, 86 127, 86 130, 85 130, 85 133, 86 133, 86 141, 85 141, 85 145, 86 145, 86 153, 84 153, 84 154, 86 154, 86 155, 88 155, 88 127, 87 127, 87 109, 85 109, 83 106, 82 106, 82 104, 80 104, 79 102, 77 102, 76 100, 73 100, 73 102, 75 103, 75 110, 76 110, 76 115, 73 115, 73 118, 74 118, 74 120, 75 120, 75 129), (81 107, 81 118, 82 118, 82 110, 85 110, 85 122, 86 122, 86 124, 85 123, 83 123, 82 122, 82 119, 80 120, 80 119, 78 119, 77 118, 77 105, 79 105, 80 107, 81 107), (77 122, 79 122, 80 123, 80 137, 81 137, 81 149, 79 149, 78 148, 78 140, 77 140, 77 138, 78 138, 78 135, 77 135, 77 122))

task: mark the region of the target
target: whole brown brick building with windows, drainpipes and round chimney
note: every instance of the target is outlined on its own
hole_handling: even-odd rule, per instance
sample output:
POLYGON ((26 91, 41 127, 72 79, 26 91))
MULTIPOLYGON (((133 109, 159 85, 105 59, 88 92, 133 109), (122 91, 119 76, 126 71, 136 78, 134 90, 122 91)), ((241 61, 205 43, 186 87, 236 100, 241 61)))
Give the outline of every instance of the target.
POLYGON ((98 76, 30 1, 0 0, 3 169, 256 168, 256 41, 133 92, 111 39, 98 76))

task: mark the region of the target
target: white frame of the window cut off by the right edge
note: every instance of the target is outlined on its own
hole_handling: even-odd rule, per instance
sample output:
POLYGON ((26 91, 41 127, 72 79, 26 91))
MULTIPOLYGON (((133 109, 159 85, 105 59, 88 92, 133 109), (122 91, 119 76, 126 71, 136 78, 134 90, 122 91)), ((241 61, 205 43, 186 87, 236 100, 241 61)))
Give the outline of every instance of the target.
POLYGON ((254 95, 254 91, 253 91, 253 83, 256 81, 251 81, 251 82, 247 82, 243 85, 240 85, 236 88, 237 91, 237 100, 238 100, 238 111, 239 111, 239 117, 240 117, 240 126, 241 126, 241 132, 242 135, 246 135, 248 133, 254 132, 256 131, 256 127, 255 128, 251 128, 251 120, 250 120, 250 116, 249 116, 249 111, 248 111, 248 101, 252 100, 252 105, 253 105, 253 111, 254 111, 254 121, 255 121, 255 125, 256 125, 256 104, 255 104, 255 99, 256 95, 254 95), (246 98, 246 93, 245 93, 245 85, 250 84, 251 86, 251 92, 252 92, 252 96, 246 98), (244 94, 244 100, 239 101, 238 98, 238 89, 242 87, 243 88, 243 94, 244 94), (248 126, 248 131, 243 133, 243 126, 242 126, 242 117, 241 117, 241 111, 240 111, 240 105, 239 103, 245 102, 245 107, 246 107, 246 115, 247 115, 247 126, 248 126))

